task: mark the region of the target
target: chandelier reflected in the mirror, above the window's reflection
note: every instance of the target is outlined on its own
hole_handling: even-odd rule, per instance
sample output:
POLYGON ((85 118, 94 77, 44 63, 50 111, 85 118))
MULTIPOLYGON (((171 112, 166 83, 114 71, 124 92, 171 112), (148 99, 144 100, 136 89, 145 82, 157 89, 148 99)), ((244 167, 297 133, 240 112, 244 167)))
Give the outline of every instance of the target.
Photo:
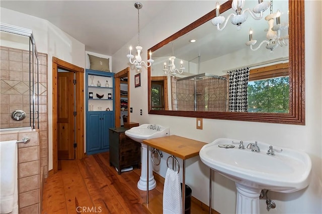
POLYGON ((253 40, 253 30, 250 29, 250 41, 246 42, 247 46, 250 46, 252 51, 257 51, 263 44, 266 44, 266 49, 273 51, 277 46, 287 46, 288 45, 288 34, 286 36, 281 36, 281 31, 288 29, 288 23, 281 23, 281 12, 277 10, 273 13, 273 0, 271 0, 270 14, 265 17, 268 21, 268 29, 266 33, 266 39, 262 41, 257 48, 253 46, 257 43, 257 40, 253 40), (274 19, 276 19, 276 25, 274 25, 274 19))

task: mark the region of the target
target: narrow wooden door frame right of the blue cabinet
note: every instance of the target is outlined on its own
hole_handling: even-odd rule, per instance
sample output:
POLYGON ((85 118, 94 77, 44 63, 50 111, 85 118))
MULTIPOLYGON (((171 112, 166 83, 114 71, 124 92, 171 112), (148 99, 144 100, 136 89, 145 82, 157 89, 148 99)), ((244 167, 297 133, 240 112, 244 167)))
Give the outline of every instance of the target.
POLYGON ((115 127, 121 127, 121 78, 127 77, 127 122, 130 122, 130 67, 115 74, 115 127))

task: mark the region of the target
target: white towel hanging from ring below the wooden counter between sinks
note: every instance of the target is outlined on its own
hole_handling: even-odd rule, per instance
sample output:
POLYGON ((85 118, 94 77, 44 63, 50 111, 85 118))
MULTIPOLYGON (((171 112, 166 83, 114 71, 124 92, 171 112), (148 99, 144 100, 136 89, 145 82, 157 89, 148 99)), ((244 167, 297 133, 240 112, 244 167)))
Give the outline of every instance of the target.
POLYGON ((165 185, 163 188, 163 213, 182 213, 180 176, 177 171, 170 168, 167 169, 165 185))

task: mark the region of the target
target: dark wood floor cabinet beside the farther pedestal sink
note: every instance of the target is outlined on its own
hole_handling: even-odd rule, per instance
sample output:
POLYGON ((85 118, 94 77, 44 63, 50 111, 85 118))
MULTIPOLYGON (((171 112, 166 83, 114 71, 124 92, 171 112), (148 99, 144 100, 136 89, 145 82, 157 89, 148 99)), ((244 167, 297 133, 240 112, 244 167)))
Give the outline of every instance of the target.
POLYGON ((110 128, 110 165, 115 166, 118 174, 130 166, 140 167, 141 144, 125 135, 128 128, 110 128))

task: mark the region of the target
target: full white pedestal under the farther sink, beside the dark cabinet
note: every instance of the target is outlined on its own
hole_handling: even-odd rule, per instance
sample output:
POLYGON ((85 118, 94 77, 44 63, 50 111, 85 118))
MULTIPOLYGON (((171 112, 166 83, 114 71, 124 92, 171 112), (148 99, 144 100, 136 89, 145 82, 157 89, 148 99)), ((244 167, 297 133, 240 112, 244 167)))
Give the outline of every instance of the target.
POLYGON ((149 180, 149 190, 154 189, 156 186, 156 182, 153 176, 153 167, 152 167, 152 161, 149 161, 149 174, 147 177, 146 174, 146 158, 147 158, 147 152, 149 152, 149 157, 151 157, 151 150, 147 151, 147 145, 141 143, 142 151, 141 151, 141 176, 140 180, 137 182, 137 188, 140 190, 146 191, 146 181, 149 180))

